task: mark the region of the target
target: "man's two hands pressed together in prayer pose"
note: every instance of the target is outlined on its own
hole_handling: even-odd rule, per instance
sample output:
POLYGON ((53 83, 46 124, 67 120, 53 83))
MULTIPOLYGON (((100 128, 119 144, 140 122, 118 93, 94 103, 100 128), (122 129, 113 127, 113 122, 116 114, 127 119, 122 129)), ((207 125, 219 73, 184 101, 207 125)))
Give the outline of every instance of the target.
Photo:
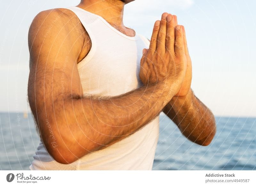
POLYGON ((186 96, 192 79, 185 29, 177 17, 163 13, 155 22, 149 49, 143 50, 140 79, 147 85, 163 84, 173 96, 186 96))

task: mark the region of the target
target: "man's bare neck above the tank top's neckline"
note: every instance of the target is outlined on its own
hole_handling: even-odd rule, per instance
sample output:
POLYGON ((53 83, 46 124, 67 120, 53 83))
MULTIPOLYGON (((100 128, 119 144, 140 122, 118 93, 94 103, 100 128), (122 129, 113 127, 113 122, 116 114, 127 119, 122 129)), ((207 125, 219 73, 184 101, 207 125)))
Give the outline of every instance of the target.
POLYGON ((119 0, 82 0, 77 7, 92 12, 116 26, 124 26, 124 3, 119 0))

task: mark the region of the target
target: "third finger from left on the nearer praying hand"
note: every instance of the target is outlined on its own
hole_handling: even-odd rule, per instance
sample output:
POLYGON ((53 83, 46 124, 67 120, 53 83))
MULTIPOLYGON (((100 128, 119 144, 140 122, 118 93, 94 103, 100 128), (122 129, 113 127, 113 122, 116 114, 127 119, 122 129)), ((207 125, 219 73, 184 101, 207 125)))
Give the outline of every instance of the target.
POLYGON ((175 21, 172 15, 167 16, 166 52, 174 55, 175 21))

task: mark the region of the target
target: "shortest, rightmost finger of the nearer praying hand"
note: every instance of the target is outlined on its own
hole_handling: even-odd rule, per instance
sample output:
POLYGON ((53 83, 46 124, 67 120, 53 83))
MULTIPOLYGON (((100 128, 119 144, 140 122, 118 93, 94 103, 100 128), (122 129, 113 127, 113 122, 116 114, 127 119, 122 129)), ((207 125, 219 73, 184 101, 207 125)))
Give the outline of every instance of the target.
POLYGON ((183 31, 180 25, 175 27, 175 54, 181 56, 185 53, 184 51, 184 41, 183 41, 183 31))

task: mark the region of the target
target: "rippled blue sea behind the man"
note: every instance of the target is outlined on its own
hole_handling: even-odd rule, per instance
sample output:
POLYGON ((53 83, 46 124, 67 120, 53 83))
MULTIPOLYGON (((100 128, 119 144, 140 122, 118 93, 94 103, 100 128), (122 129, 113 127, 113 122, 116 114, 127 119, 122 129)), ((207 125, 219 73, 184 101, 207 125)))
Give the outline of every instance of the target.
MULTIPOLYGON (((256 170, 256 118, 215 117, 208 146, 192 143, 164 113, 153 170, 256 170)), ((0 113, 0 170, 29 170, 39 144, 30 113, 0 113)))

